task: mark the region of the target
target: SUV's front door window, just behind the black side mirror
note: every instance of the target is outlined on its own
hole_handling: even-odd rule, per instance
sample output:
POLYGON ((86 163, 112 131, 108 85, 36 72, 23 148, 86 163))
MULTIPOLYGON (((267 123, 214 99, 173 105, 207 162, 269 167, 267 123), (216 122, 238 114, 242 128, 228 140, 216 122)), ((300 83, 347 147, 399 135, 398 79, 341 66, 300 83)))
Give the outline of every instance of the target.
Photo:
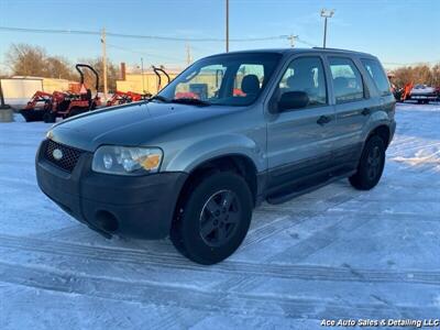
POLYGON ((294 59, 278 85, 280 94, 305 91, 309 97, 308 107, 327 105, 327 87, 322 62, 319 57, 294 59))

